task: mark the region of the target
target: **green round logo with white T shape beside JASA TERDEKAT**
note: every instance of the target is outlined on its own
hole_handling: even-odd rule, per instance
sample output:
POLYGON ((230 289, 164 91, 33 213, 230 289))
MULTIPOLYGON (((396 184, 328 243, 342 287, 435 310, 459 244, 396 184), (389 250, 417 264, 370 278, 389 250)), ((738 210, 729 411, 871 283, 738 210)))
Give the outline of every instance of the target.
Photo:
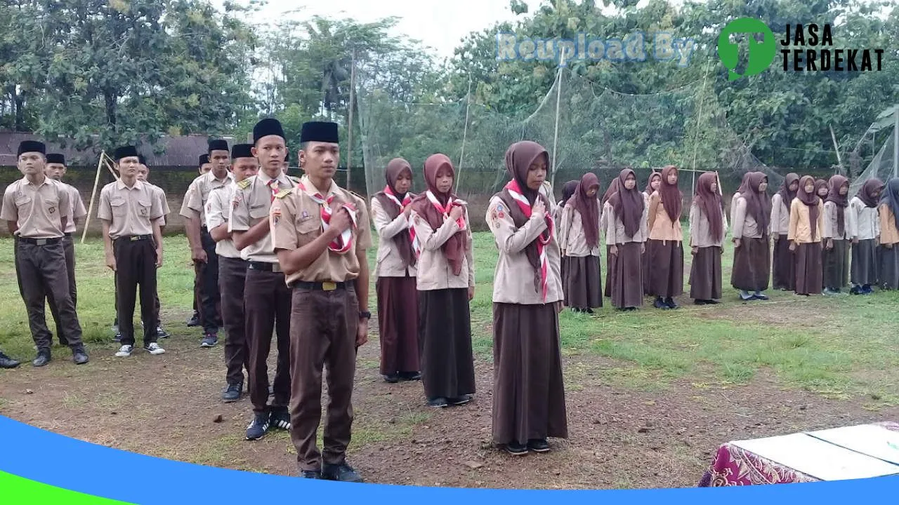
POLYGON ((747 75, 761 74, 774 61, 776 52, 774 32, 768 28, 767 24, 755 18, 738 18, 728 22, 725 29, 721 31, 721 35, 718 36, 718 58, 721 58, 721 63, 727 67, 728 81, 747 75), (740 63, 740 45, 731 42, 732 33, 744 33, 747 36, 746 40, 749 45, 746 46, 747 61, 743 74, 734 71, 740 63), (764 37, 761 42, 755 40, 753 35, 756 33, 761 33, 764 37))

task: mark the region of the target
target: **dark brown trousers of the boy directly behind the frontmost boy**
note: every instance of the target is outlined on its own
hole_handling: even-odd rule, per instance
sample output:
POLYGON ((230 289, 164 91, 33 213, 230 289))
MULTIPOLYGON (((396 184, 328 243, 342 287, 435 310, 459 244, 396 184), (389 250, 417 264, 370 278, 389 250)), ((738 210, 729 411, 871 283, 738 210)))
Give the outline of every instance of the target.
POLYGON ((290 401, 290 290, 284 274, 246 270, 244 286, 246 343, 250 349, 249 390, 253 412, 286 410, 290 401), (269 399, 271 332, 277 334, 278 363, 274 399, 269 399))

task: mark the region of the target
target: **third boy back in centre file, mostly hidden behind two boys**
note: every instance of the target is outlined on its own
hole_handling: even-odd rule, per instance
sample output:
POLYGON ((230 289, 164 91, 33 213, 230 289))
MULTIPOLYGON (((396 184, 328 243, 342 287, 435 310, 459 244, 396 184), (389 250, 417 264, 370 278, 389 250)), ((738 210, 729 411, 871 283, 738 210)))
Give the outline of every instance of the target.
MULTIPOLYGON (((253 157, 252 144, 236 144, 231 148, 231 175, 243 182, 259 171, 253 157)), ((226 386, 222 401, 236 402, 244 389, 244 368, 249 371, 249 349, 246 345, 244 320, 244 283, 249 264, 240 257, 227 232, 227 216, 234 200, 235 184, 209 191, 206 203, 206 226, 216 241, 218 254, 218 290, 221 292, 222 322, 225 323, 226 386)))

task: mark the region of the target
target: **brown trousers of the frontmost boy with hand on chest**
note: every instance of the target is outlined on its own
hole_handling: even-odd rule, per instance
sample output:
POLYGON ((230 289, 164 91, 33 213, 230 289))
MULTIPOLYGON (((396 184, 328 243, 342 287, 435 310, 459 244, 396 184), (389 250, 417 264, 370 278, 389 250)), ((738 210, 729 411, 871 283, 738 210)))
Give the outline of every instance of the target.
POLYGON ((290 317, 290 439, 299 469, 340 465, 350 445, 352 382, 356 373, 359 300, 353 284, 334 291, 295 288, 290 317), (327 366, 324 447, 316 447, 322 419, 322 368, 327 366))

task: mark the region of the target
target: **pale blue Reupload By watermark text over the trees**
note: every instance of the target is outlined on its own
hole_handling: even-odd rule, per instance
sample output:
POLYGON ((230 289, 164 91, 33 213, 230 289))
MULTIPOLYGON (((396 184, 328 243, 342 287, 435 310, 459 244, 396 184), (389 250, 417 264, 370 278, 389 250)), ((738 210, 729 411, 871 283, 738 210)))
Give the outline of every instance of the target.
POLYGON ((511 32, 496 33, 497 60, 555 61, 561 66, 583 61, 646 61, 650 53, 655 61, 688 66, 696 47, 695 40, 675 37, 670 31, 655 31, 651 36, 634 31, 620 39, 601 39, 583 32, 574 39, 531 39, 519 38, 511 32), (652 40, 651 50, 649 40, 652 40))

